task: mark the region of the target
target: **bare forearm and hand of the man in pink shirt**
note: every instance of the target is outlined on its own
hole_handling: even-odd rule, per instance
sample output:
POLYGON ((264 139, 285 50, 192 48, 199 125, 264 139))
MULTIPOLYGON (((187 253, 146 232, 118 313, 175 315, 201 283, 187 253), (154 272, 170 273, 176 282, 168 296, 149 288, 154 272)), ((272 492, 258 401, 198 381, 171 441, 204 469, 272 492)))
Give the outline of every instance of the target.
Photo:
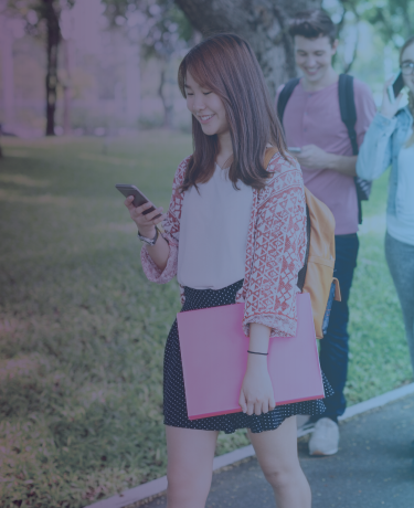
POLYGON ((357 176, 358 156, 338 156, 328 154, 316 145, 305 145, 296 157, 300 166, 306 169, 332 169, 348 177, 357 176))

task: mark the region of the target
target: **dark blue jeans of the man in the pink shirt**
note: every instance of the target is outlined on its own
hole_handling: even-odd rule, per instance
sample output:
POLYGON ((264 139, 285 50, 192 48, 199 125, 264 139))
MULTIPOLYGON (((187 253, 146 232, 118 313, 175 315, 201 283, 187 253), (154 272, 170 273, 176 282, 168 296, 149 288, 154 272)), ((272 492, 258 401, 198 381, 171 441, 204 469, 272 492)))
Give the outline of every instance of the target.
POLYGON ((357 266, 359 240, 357 233, 335 237, 336 261, 333 276, 341 287, 342 301, 333 301, 328 332, 320 341, 320 368, 328 378, 335 394, 325 399, 326 412, 312 420, 330 417, 337 421, 344 413, 347 401, 343 389, 348 372, 348 298, 357 266))

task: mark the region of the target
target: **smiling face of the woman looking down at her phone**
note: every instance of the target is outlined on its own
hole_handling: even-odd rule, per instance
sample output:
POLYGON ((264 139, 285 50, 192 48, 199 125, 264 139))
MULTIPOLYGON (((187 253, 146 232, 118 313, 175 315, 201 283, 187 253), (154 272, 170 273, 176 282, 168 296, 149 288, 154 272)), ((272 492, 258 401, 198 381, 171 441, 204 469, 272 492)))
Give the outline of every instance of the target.
POLYGON ((208 136, 227 133, 229 121, 219 95, 200 86, 189 72, 187 72, 184 87, 187 107, 200 123, 203 133, 208 136))

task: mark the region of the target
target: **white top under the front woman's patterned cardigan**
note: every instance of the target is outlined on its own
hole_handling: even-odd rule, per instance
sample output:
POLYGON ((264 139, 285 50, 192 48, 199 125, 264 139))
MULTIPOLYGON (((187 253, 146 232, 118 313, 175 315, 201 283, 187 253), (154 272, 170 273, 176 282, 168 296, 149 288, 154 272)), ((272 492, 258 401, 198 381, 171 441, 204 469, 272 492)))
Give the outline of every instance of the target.
POLYGON ((180 221, 178 282, 194 289, 221 289, 244 278, 253 189, 213 177, 185 191, 180 221))

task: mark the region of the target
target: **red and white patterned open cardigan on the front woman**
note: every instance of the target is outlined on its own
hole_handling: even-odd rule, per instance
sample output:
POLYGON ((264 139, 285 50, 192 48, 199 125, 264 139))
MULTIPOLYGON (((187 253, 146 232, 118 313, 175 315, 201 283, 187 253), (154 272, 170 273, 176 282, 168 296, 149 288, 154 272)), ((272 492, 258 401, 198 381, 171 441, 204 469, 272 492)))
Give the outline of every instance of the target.
MULTIPOLYGON (((306 252, 306 204, 299 163, 276 154, 267 167, 273 173, 266 187, 253 190, 245 276, 236 303, 245 303, 243 327, 259 322, 272 328, 270 337, 296 335, 296 282, 306 252)), ((149 281, 164 284, 177 275, 183 182, 189 157, 177 169, 172 197, 162 236, 170 246, 166 268, 161 272, 147 247, 141 250, 142 268, 149 281)), ((183 288, 181 287, 183 303, 183 288)))

